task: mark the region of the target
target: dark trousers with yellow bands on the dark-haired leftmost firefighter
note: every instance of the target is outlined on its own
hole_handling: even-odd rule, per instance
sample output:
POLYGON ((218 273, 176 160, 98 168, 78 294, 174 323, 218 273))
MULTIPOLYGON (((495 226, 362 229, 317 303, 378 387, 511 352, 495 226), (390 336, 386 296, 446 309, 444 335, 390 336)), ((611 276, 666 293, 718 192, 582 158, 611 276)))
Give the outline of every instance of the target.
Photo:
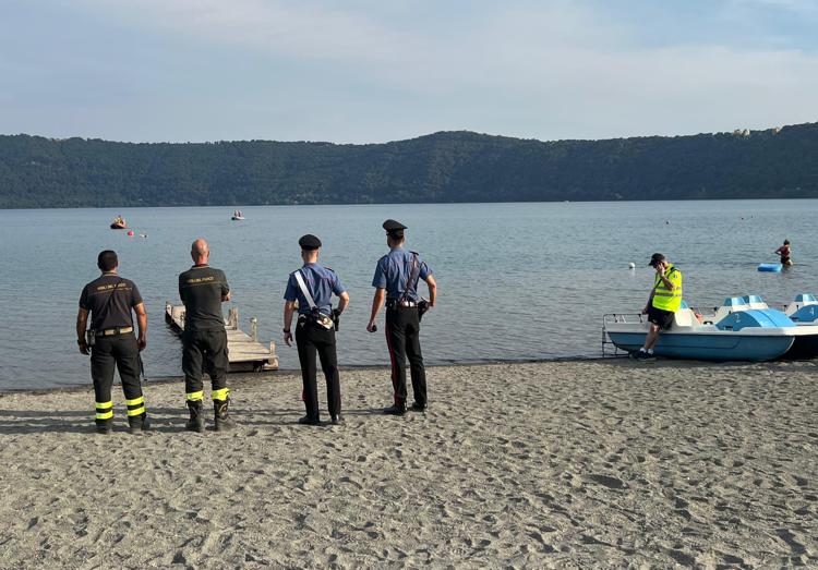
MULTIPOLYGON (((125 400, 142 398, 140 348, 136 337, 131 332, 98 337, 91 348, 91 377, 94 380, 97 420, 109 420, 112 415, 111 386, 113 386, 115 369, 119 371, 119 377, 122 379, 125 400)), ((129 408, 131 408, 130 404, 129 408)), ((139 404, 135 404, 135 409, 137 408, 139 404)))

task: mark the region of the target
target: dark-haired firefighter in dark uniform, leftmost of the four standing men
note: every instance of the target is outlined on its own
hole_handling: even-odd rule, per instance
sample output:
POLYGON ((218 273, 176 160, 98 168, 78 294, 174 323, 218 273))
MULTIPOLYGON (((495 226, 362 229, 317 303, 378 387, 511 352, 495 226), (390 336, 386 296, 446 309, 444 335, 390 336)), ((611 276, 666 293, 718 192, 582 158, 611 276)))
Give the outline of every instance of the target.
POLYGON ((118 266, 116 252, 106 250, 99 254, 97 267, 103 275, 83 289, 76 316, 80 352, 91 354, 96 427, 100 434, 110 434, 113 423, 111 386, 115 367, 122 380, 130 432, 133 434, 148 428, 145 398, 140 385, 140 351, 147 345, 147 314, 139 289, 133 281, 117 275, 118 266), (139 337, 133 333, 132 310, 136 313, 139 337), (86 336, 88 314, 91 330, 86 336))

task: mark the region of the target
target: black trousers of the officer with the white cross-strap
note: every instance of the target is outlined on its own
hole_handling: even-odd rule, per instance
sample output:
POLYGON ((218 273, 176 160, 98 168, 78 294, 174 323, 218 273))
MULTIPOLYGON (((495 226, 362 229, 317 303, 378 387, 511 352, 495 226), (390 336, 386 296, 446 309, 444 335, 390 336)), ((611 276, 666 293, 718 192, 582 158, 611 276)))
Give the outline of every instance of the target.
POLYGON ((301 363, 301 380, 304 386, 304 407, 310 420, 318 420, 318 386, 315 355, 321 360, 321 369, 326 379, 326 401, 329 415, 340 414, 340 375, 338 355, 335 351, 335 329, 325 329, 308 319, 299 318, 296 327, 296 345, 301 363))

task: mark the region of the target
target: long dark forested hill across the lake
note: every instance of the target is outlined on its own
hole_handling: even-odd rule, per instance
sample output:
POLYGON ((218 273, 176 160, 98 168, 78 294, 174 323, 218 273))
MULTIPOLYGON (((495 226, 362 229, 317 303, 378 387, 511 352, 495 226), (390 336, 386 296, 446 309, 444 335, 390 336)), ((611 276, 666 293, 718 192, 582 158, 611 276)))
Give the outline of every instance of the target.
POLYGON ((0 208, 818 197, 818 123, 543 143, 369 145, 0 136, 0 208))

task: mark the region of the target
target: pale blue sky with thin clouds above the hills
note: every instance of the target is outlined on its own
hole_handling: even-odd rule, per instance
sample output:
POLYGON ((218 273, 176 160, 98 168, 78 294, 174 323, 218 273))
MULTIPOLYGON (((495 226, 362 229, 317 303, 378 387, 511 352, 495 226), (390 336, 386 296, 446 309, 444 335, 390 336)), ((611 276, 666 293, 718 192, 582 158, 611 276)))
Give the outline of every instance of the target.
POLYGON ((818 0, 0 0, 0 134, 381 143, 818 121, 818 0))

